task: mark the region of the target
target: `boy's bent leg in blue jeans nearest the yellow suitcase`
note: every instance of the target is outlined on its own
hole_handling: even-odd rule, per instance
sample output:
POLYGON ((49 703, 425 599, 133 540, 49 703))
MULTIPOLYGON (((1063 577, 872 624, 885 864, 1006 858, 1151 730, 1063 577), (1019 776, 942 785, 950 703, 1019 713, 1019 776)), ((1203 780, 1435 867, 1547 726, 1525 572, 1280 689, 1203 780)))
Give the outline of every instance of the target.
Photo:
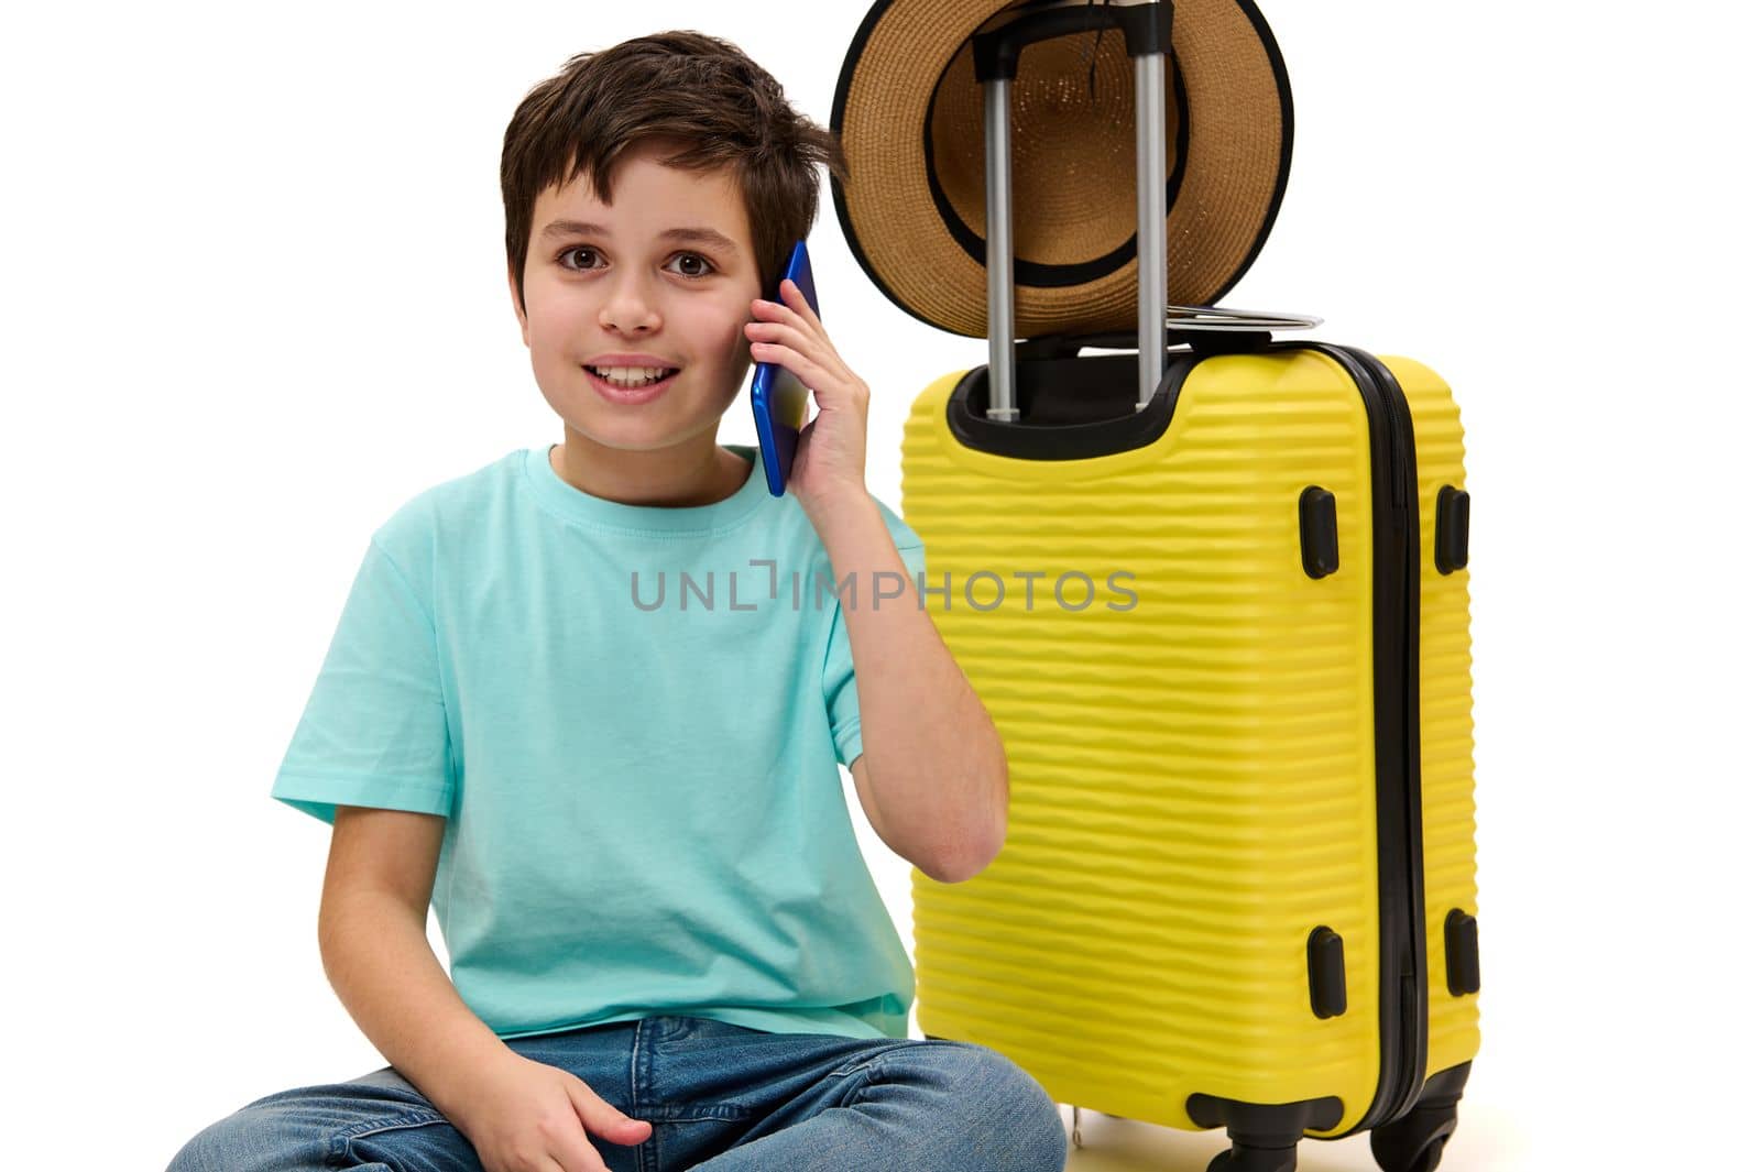
POLYGON ((1062 1172, 1067 1153, 1044 1088, 969 1042, 653 1019, 634 1079, 659 1172, 1062 1172))

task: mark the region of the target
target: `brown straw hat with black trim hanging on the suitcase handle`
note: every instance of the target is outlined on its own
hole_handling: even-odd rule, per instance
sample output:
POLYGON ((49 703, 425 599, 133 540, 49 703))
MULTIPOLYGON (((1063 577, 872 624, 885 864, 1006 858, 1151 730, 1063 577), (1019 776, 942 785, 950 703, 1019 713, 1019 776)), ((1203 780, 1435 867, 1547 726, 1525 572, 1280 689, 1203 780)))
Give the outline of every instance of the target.
MULTIPOLYGON (((875 0, 831 132, 838 223, 912 317, 986 334, 984 92, 970 37, 1046 0, 875 0)), ((1168 109, 1168 299, 1215 304, 1259 255, 1291 164, 1291 86, 1252 0, 1178 0, 1168 109)), ((1016 334, 1136 331, 1132 62, 1116 28, 1028 44, 1011 92, 1016 334), (1092 70, 1092 72, 1090 72, 1092 70), (1090 77, 1094 97, 1090 97, 1090 77)))

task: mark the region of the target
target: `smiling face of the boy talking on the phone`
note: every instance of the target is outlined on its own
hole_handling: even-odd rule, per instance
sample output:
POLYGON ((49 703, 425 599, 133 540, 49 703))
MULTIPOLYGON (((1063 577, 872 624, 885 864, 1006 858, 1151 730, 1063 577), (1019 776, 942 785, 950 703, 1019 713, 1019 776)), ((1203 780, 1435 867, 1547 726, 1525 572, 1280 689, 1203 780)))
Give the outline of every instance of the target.
MULTIPOLYGON (((514 296, 544 399, 571 431, 613 449, 713 447, 752 364, 745 324, 761 290, 740 190, 727 171, 666 167, 664 153, 643 144, 625 155, 613 204, 593 199, 585 174, 539 194, 525 313, 514 296), (708 229, 726 241, 667 238, 673 229, 708 229), (585 370, 611 354, 648 354, 678 375, 660 398, 616 403, 585 370), (706 442, 696 438, 704 433, 706 442)), ((507 285, 514 292, 512 273, 507 285)))

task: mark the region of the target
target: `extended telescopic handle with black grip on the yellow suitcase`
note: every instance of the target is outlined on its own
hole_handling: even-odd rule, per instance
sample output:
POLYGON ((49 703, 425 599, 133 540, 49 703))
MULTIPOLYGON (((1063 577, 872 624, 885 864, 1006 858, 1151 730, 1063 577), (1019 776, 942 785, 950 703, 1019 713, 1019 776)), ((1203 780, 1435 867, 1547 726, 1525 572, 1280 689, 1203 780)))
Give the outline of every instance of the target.
POLYGON ((990 419, 1016 422, 1014 405, 1014 225, 1009 179, 1009 88, 1020 53, 1034 40, 1085 28, 1125 30, 1132 56, 1138 136, 1138 410, 1162 382, 1168 313, 1168 102, 1162 55, 1173 53, 1173 2, 1106 4, 1055 0, 1007 25, 974 33, 974 69, 984 86, 984 275, 990 299, 990 419))

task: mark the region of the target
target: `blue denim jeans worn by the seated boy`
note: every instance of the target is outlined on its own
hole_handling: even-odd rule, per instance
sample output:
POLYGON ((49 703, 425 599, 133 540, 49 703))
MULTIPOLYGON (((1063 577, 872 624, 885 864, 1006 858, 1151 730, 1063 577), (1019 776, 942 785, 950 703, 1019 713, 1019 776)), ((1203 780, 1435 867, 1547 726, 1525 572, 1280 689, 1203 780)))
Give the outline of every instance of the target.
MULTIPOLYGON (((1064 1117, 972 1042, 766 1033, 646 1017, 505 1042, 571 1072, 652 1132, 588 1133, 611 1172, 1062 1172, 1064 1117)), ((585 1128, 583 1128, 585 1130, 585 1128)), ((483 1172, 393 1066, 278 1091, 201 1130, 167 1172, 483 1172)))

